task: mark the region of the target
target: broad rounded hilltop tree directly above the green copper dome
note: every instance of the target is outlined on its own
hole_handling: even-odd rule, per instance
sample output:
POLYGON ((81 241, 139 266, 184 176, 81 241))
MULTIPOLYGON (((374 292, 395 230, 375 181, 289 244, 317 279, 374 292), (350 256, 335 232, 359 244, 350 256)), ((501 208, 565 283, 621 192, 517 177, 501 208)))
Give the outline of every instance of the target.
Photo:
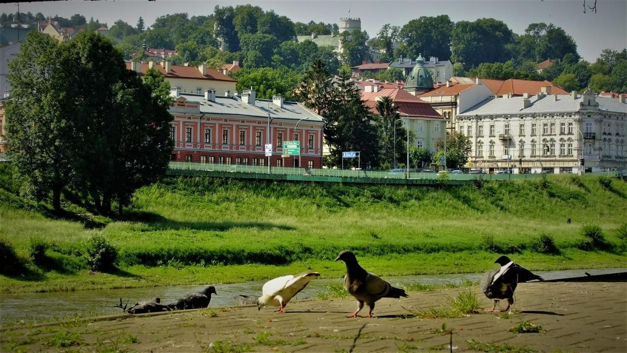
POLYGON ((451 57, 451 36, 453 21, 446 14, 440 16, 421 16, 412 19, 403 26, 398 36, 406 45, 406 55, 417 58, 438 57, 449 60, 451 57))

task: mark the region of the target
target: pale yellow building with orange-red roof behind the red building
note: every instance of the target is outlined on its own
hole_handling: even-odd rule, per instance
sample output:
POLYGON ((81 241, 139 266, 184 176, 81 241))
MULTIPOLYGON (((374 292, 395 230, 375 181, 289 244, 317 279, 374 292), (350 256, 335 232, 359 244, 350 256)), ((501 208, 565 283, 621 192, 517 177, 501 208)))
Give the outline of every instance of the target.
POLYGON ((144 75, 149 68, 154 68, 163 73, 170 87, 178 88, 179 92, 203 94, 206 90, 215 90, 220 95, 233 95, 236 92, 236 80, 218 70, 208 68, 205 64, 195 67, 172 65, 169 61, 161 63, 149 61, 147 63, 129 62, 126 63, 126 67, 139 75, 144 75))

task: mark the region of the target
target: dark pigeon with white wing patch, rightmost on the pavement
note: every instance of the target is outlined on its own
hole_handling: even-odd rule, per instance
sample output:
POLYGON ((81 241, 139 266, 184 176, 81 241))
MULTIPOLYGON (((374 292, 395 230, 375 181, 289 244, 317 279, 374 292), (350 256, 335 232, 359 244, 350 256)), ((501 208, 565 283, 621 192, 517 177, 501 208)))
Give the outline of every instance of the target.
POLYGON ((494 305, 487 312, 498 312, 494 308, 500 299, 507 299, 507 308, 504 311, 510 310, 514 304, 514 291, 519 283, 532 280, 544 281, 544 278, 514 263, 507 256, 501 256, 494 263, 501 266, 486 272, 480 283, 483 294, 488 299, 494 300, 494 305))

